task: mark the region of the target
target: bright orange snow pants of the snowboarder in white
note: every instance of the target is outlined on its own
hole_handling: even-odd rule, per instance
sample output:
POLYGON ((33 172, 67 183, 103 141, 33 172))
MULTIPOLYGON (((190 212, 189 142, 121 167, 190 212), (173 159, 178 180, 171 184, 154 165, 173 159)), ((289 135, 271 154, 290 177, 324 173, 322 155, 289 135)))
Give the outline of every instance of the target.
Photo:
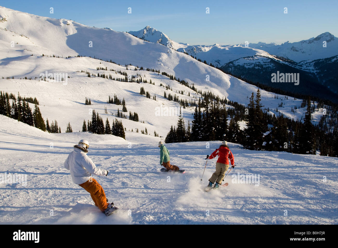
POLYGON ((92 197, 95 206, 97 206, 101 211, 107 209, 108 203, 107 198, 105 197, 104 190, 94 178, 91 178, 87 182, 79 185, 90 193, 90 196, 92 197))

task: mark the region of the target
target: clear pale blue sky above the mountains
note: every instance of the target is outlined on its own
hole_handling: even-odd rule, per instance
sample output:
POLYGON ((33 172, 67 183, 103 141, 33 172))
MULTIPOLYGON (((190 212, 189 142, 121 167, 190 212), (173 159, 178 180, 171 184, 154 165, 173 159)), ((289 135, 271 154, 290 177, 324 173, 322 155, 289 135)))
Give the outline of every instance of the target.
POLYGON ((330 32, 338 36, 338 1, 2 1, 38 16, 72 19, 116 31, 149 25, 176 42, 233 45, 297 42, 330 32), (50 14, 50 7, 54 13, 50 14), (128 14, 131 7, 131 14, 128 14), (206 13, 209 7, 210 13, 206 13), (284 13, 284 7, 288 13, 284 13))

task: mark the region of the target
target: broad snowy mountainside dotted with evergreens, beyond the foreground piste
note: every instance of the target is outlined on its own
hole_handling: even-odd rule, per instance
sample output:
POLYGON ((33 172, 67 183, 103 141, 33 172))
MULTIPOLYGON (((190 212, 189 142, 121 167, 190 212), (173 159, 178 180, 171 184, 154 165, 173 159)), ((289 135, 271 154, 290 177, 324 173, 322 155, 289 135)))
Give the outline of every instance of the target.
MULTIPOLYGON (((71 123, 74 131, 81 130, 83 119, 87 121, 91 118, 90 109, 95 109, 104 120, 108 118, 112 123, 117 109, 121 110, 122 106, 108 105, 106 101, 109 95, 113 97, 116 94, 121 100, 125 98, 128 111, 137 112, 140 120, 145 122, 121 119, 124 127, 127 128, 126 133, 135 128, 140 131, 147 128, 150 134, 156 131, 165 136, 170 126, 176 125, 177 115, 155 117, 156 108, 161 106, 177 108, 179 105, 164 99, 164 91, 167 94, 176 94, 179 99, 187 101, 198 101, 200 95, 161 74, 145 70, 134 71, 135 65, 172 74, 190 85, 194 84, 198 90, 212 91, 220 97, 242 104, 248 104, 251 92, 257 91, 257 87, 224 74, 184 53, 176 52, 161 44, 146 42, 128 33, 88 27, 70 20, 38 17, 4 7, 0 7, 0 15, 1 18, 6 19, 0 22, 0 42, 3 44, 0 47, 0 77, 15 78, 0 79, 0 89, 14 94, 20 92, 26 97, 37 97, 45 120, 46 118, 49 121, 56 119, 61 125, 62 132, 68 122, 71 123), (14 41, 14 47, 10 46, 11 40, 14 41), (89 47, 90 41, 93 42, 93 47, 89 47), (43 53, 60 57, 41 56, 43 53), (66 58, 68 55, 78 54, 112 60, 123 66, 89 57, 66 58), (129 65, 129 70, 126 70, 124 64, 129 63, 133 66, 129 65), (78 72, 83 70, 95 75, 111 73, 113 77, 124 77, 111 71, 97 71, 97 67, 122 71, 130 77, 140 74, 148 82, 151 79, 155 85, 119 82, 98 77, 88 78, 87 74, 78 72), (67 73, 69 76, 67 84, 54 80, 39 81, 40 74, 46 71, 67 73), (18 79, 24 77, 32 80, 18 79), (210 81, 206 80, 208 77, 210 81), (165 90, 160 86, 161 83, 170 85, 173 91, 165 90), (156 94, 156 101, 139 95, 140 87, 144 87, 151 95, 156 94), (183 95, 178 93, 182 90, 183 95), (93 105, 84 105, 86 97, 91 98, 93 105), (108 114, 104 114, 105 107, 108 114)), ((262 91, 261 95, 262 105, 265 108, 274 110, 281 102, 281 99, 274 98, 273 93, 262 91)), ((291 112, 291 108, 295 105, 300 107, 300 103, 301 100, 294 100, 291 97, 288 100, 283 98, 283 108, 279 108, 279 112, 294 119, 301 119, 305 113, 304 109, 299 109, 296 113, 291 112)), ((188 120, 192 120, 193 109, 182 109, 182 112, 187 125, 188 120)), ((320 116, 320 112, 314 114, 315 123, 320 116)), ((138 141, 135 140, 137 143, 142 143, 138 141)))

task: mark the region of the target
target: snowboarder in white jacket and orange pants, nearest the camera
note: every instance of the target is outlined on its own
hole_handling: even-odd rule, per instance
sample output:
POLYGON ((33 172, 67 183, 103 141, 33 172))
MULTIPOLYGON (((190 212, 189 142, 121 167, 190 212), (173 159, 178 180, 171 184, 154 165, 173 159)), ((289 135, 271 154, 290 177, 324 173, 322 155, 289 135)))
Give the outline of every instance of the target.
POLYGON ((74 145, 74 150, 66 159, 64 167, 70 171, 73 182, 88 191, 95 206, 105 212, 113 208, 114 203, 108 203, 102 186, 91 175, 106 176, 108 171, 96 168, 93 161, 87 156, 88 147, 88 140, 80 140, 77 145, 74 145))

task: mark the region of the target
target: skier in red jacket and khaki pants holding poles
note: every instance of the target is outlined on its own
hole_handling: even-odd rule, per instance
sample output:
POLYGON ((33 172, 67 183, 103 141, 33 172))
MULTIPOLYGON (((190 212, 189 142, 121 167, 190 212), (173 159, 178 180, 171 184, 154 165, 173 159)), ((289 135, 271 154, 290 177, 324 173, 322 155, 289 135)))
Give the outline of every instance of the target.
POLYGON ((207 155, 206 159, 213 159, 216 156, 218 156, 218 160, 216 162, 216 171, 210 177, 207 188, 211 188, 215 182, 214 188, 218 188, 219 185, 222 184, 225 172, 229 168, 229 160, 231 161, 232 168, 235 167, 234 155, 232 154, 226 141, 222 141, 222 144, 219 146, 219 148, 216 149, 210 156, 207 155))

